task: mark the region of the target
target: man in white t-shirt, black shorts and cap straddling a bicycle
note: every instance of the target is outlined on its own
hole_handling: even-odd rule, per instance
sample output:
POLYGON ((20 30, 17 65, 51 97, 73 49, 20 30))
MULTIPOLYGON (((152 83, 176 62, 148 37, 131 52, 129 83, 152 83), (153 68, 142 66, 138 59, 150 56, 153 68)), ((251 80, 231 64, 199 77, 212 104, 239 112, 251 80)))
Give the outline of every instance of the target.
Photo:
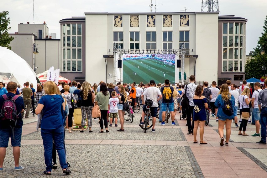
MULTIPOLYGON (((150 83, 150 87, 144 91, 144 93, 141 95, 141 98, 142 98, 142 104, 145 104, 144 96, 146 96, 147 99, 151 99, 153 101, 153 105, 150 106, 150 115, 152 116, 152 132, 155 132, 158 101, 162 98, 162 94, 160 92, 160 89, 155 87, 154 80, 150 80, 149 83, 150 83)), ((146 105, 144 105, 143 107, 142 121, 139 124, 139 126, 144 125, 145 113, 146 113, 146 105)))

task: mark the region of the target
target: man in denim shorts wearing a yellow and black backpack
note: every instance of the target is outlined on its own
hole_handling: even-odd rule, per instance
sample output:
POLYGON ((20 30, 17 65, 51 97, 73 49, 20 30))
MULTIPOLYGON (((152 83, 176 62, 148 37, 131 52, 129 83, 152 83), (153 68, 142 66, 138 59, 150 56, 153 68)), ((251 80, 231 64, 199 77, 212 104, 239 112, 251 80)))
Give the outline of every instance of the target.
POLYGON ((170 117, 171 117, 171 125, 176 125, 174 122, 174 103, 173 103, 173 93, 174 89, 173 87, 170 87, 170 81, 168 79, 165 80, 165 86, 161 87, 161 93, 162 93, 162 123, 161 125, 165 125, 165 118, 166 118, 166 111, 167 107, 170 111, 170 117))

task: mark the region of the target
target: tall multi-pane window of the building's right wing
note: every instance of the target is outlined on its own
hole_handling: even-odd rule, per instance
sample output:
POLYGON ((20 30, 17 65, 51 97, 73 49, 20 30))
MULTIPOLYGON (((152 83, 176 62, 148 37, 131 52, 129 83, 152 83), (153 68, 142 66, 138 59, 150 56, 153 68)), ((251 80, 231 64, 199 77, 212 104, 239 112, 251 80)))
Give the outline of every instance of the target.
POLYGON ((223 23, 222 29, 222 71, 243 72, 244 23, 223 23))

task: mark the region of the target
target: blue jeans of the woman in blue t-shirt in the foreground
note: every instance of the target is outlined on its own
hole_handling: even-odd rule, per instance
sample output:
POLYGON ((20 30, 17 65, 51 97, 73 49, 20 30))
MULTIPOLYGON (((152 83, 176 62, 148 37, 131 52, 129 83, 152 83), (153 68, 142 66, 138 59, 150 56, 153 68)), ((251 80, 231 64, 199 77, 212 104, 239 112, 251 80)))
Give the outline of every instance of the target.
POLYGON ((44 162, 46 165, 46 170, 48 172, 51 172, 52 170, 53 140, 55 143, 55 148, 57 150, 61 168, 68 168, 64 149, 64 134, 65 129, 63 125, 55 129, 41 129, 41 135, 44 144, 44 162))

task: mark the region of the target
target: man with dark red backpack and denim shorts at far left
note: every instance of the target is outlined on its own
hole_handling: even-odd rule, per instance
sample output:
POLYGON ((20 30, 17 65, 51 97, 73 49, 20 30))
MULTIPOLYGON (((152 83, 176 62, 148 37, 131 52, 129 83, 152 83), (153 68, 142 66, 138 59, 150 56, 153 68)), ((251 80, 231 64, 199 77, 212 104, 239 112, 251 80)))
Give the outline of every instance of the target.
POLYGON ((11 138, 11 146, 13 147, 14 171, 24 169, 24 167, 19 165, 23 125, 21 111, 24 109, 24 102, 22 97, 16 95, 17 83, 13 81, 8 82, 7 91, 8 93, 0 96, 0 172, 3 172, 3 162, 9 138, 11 138))

